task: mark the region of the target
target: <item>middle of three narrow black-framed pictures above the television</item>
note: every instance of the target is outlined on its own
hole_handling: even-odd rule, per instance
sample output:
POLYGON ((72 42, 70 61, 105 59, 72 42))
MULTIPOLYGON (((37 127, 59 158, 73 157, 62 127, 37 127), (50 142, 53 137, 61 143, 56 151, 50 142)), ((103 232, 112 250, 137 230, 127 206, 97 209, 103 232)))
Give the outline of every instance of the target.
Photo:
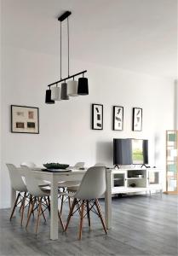
POLYGON ((113 130, 123 130, 123 107, 113 106, 113 130))

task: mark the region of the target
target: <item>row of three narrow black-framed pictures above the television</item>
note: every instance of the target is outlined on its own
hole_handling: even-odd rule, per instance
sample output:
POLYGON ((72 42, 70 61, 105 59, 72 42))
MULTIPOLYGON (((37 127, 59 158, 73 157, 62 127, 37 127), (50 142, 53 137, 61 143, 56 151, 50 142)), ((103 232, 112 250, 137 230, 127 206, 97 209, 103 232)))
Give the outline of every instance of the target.
MULTIPOLYGON (((113 131, 123 131, 123 107, 113 106, 113 131)), ((92 104, 92 130, 103 130, 103 105, 92 104)), ((133 108, 132 131, 142 131, 142 108, 133 108)))

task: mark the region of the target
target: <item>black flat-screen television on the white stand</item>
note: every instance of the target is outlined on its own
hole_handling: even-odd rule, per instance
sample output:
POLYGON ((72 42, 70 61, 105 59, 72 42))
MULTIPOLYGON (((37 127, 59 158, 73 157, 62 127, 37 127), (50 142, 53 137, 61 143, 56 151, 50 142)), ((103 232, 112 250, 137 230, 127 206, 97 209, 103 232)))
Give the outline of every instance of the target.
POLYGON ((148 140, 114 138, 113 164, 114 166, 148 164, 148 140))

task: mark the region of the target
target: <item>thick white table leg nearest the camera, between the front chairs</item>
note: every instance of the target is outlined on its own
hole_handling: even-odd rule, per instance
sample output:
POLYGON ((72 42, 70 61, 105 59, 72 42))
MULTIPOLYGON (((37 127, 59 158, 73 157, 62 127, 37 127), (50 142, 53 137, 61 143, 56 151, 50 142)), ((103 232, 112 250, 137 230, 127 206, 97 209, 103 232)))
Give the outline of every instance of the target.
POLYGON ((58 239, 58 182, 55 175, 53 175, 51 181, 50 239, 58 239))

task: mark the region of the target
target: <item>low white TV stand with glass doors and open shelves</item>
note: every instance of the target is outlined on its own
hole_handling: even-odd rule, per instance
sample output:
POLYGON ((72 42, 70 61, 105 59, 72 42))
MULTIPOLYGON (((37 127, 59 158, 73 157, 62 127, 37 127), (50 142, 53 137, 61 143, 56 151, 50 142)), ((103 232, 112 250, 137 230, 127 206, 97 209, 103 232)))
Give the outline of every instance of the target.
POLYGON ((112 169, 112 194, 141 193, 158 190, 162 193, 160 169, 112 169))

